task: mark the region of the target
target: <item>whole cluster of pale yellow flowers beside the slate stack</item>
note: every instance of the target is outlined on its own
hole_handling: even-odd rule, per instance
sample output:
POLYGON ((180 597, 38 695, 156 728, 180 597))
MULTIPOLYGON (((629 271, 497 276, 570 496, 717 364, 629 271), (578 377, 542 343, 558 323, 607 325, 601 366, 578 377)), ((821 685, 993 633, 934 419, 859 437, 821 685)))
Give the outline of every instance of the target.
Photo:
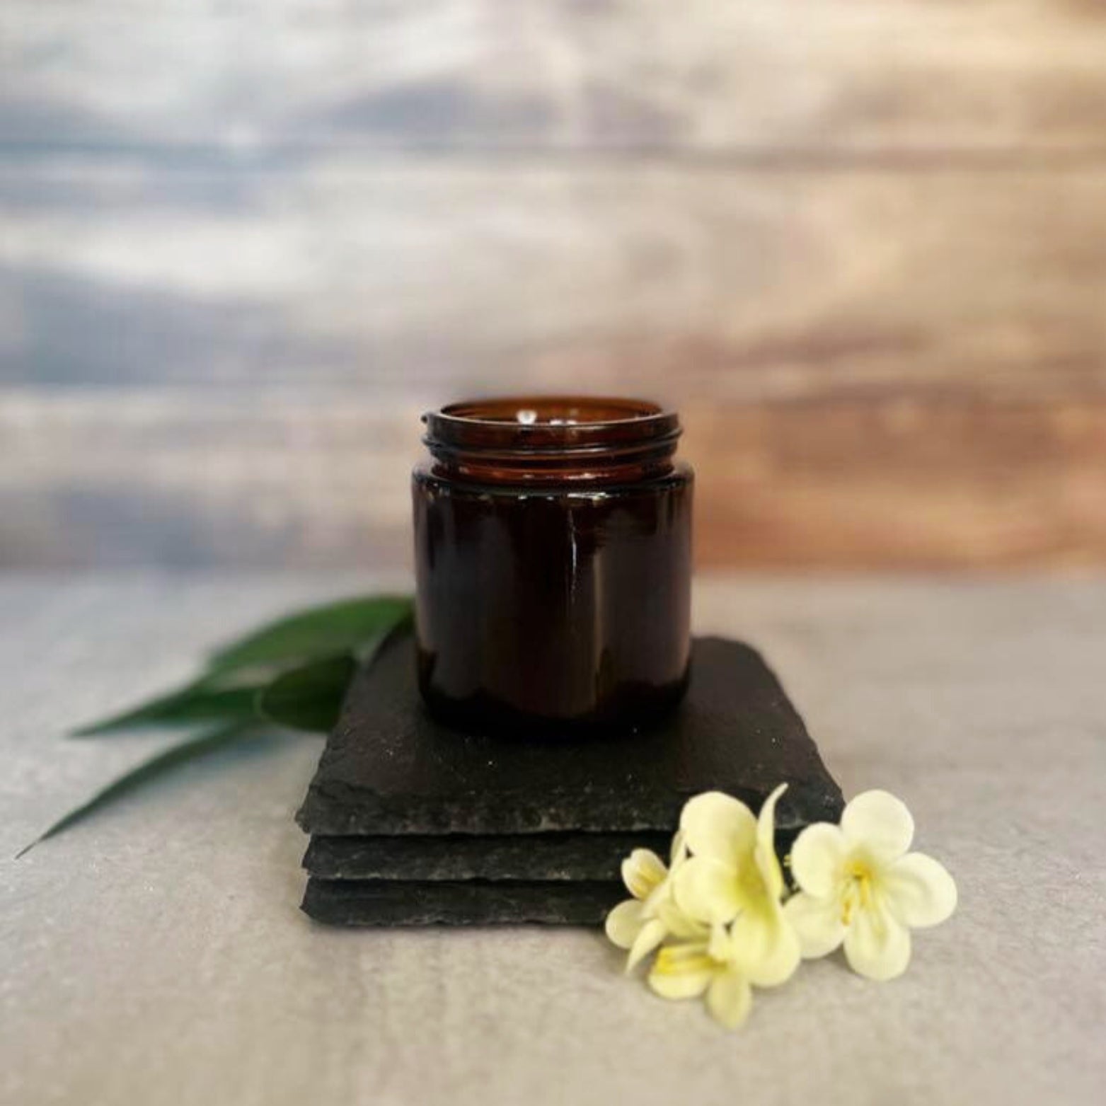
POLYGON ((629 951, 627 971, 656 952, 653 990, 666 999, 705 994, 729 1027, 748 1016, 754 987, 778 987, 800 960, 839 946, 862 975, 900 975, 910 929, 936 926, 957 904, 948 872, 908 852, 914 818, 886 791, 857 795, 839 825, 807 826, 791 851, 789 888, 774 846, 785 787, 759 816, 717 791, 689 800, 669 864, 635 849, 622 869, 634 897, 607 916, 607 937, 629 951))

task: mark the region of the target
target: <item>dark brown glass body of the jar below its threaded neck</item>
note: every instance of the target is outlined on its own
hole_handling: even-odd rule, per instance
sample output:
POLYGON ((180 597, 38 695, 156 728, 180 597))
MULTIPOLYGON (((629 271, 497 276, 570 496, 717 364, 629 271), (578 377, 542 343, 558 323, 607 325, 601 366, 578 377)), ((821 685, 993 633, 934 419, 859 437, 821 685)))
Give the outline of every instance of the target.
POLYGON ((636 726, 684 693, 691 470, 577 490, 414 476, 419 687, 462 724, 636 726))

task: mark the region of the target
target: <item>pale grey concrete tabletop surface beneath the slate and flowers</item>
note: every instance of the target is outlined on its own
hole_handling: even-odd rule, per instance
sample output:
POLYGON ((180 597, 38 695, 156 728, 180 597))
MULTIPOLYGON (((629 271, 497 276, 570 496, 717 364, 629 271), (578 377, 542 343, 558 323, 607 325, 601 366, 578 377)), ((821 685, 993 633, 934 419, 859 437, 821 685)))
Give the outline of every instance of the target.
POLYGON ((1103 582, 699 584, 697 629, 763 648, 846 794, 900 794, 960 887, 904 979, 804 966, 737 1034, 595 932, 310 924, 292 814, 320 739, 219 754, 11 859, 166 740, 66 728, 374 583, 0 577, 0 1102, 1103 1100, 1103 582))

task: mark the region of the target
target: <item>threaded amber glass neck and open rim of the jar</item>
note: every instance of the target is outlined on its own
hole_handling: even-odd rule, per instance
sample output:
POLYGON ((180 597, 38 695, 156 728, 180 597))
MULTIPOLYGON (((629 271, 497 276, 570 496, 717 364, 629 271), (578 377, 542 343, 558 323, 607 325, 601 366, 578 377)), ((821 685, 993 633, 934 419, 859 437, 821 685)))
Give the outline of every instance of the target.
POLYGON ((495 482, 656 476, 671 471, 680 435, 659 404, 592 396, 465 400, 422 421, 440 468, 495 482))

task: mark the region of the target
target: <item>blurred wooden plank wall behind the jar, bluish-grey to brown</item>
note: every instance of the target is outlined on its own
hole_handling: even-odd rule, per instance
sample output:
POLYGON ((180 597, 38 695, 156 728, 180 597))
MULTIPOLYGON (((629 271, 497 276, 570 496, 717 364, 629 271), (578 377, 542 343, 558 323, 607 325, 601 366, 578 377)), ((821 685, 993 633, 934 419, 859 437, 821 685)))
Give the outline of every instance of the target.
POLYGON ((1106 4, 3 0, 0 566, 405 566, 520 390, 703 568, 1100 567, 1106 4))

